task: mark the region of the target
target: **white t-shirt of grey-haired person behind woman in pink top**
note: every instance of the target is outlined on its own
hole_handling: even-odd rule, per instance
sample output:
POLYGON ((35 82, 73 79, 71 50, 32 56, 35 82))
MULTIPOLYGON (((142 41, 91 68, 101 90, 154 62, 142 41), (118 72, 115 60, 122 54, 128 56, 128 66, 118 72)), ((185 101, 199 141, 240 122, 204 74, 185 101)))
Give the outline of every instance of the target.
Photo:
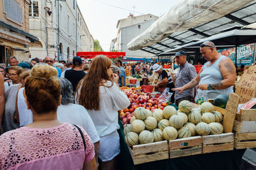
POLYGON ((72 103, 67 105, 61 104, 58 106, 57 117, 60 122, 67 122, 68 124, 75 124, 83 127, 93 143, 100 140, 92 118, 83 106, 72 103))

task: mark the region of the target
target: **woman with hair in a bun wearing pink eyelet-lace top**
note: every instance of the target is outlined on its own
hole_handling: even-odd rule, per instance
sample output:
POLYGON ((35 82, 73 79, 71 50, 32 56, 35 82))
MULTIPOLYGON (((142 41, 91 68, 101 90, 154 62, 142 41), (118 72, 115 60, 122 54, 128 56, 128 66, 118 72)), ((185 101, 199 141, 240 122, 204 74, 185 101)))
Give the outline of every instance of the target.
POLYGON ((38 65, 25 84, 33 123, 0 136, 0 169, 96 169, 92 140, 82 127, 57 120, 58 71, 38 65))

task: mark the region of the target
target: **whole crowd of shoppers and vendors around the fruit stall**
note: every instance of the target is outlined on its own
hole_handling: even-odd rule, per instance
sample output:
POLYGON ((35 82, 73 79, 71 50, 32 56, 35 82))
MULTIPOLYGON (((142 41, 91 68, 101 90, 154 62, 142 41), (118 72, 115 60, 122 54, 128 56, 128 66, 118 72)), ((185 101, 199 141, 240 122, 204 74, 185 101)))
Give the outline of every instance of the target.
POLYGON ((114 64, 104 55, 86 63, 10 57, 10 66, 0 64, 0 169, 115 169, 118 110, 130 104, 120 90, 125 76, 158 73, 156 89, 167 87, 177 105, 233 92, 232 60, 210 41, 200 52, 207 62, 198 74, 184 51, 171 71, 147 62, 114 64))

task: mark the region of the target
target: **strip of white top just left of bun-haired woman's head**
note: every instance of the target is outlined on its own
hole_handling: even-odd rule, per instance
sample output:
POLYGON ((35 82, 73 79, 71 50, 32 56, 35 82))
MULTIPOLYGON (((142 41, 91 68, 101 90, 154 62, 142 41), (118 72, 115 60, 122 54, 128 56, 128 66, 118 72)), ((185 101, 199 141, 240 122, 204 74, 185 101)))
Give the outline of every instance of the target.
POLYGON ((25 126, 33 123, 32 111, 28 110, 28 106, 25 102, 25 97, 23 95, 24 89, 24 87, 20 88, 17 97, 17 107, 19 110, 20 126, 25 126))

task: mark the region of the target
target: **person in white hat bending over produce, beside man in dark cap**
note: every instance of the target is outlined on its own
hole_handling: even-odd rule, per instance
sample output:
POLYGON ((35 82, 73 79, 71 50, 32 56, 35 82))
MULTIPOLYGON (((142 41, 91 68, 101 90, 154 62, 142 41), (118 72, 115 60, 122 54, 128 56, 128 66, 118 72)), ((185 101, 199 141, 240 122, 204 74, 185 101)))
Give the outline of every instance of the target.
MULTIPOLYGON (((169 88, 169 92, 173 93, 172 89, 174 88, 174 84, 172 82, 171 73, 167 69, 163 69, 159 64, 154 64, 152 68, 153 71, 159 74, 156 88, 166 87, 169 88)), ((159 92, 163 91, 160 90, 159 92)), ((171 102, 174 103, 174 93, 171 97, 171 102)))

